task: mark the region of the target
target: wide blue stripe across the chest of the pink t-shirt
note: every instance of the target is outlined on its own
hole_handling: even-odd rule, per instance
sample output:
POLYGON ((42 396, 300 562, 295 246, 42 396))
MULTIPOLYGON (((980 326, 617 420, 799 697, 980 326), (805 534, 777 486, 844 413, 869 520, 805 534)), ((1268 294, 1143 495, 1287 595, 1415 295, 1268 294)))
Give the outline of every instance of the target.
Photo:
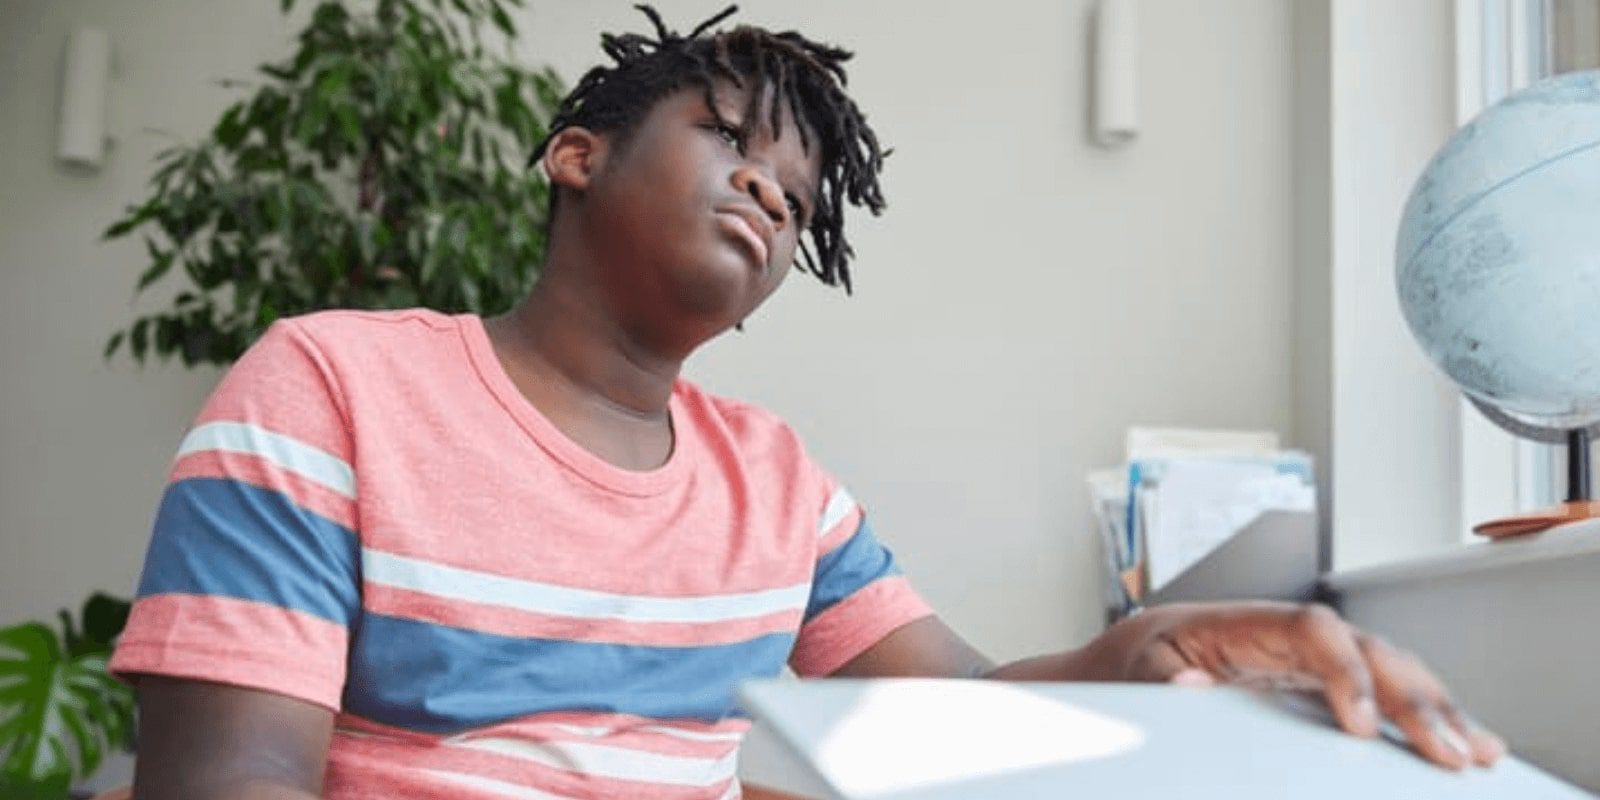
POLYGON ((792 634, 714 646, 605 645, 368 611, 350 642, 344 709, 429 733, 554 710, 714 722, 738 715, 739 682, 776 677, 792 648, 792 634))

